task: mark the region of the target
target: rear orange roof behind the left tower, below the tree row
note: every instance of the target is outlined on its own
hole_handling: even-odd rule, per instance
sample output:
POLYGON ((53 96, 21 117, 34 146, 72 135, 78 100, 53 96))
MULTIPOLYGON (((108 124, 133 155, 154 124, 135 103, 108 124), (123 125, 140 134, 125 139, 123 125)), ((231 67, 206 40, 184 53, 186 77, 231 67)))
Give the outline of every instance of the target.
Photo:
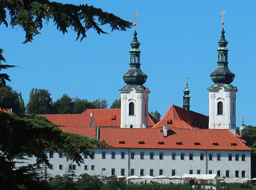
MULTIPOLYGON (((44 114, 54 124, 64 125, 67 127, 91 127, 92 117, 95 126, 100 127, 120 127, 121 124, 121 109, 86 109, 81 114, 44 114)), ((155 125, 149 114, 149 127, 155 125)))

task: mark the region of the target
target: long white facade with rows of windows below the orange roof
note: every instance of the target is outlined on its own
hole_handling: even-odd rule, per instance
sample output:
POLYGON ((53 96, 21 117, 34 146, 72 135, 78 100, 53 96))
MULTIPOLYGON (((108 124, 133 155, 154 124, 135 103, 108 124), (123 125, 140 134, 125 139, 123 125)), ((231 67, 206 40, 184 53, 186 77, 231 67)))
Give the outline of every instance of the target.
MULTIPOLYGON (((91 152, 94 152, 94 159, 85 157, 85 164, 80 167, 54 152, 50 158, 52 166, 46 172, 52 176, 63 175, 71 164, 76 175, 88 173, 127 177, 212 173, 221 178, 225 176, 226 182, 244 182, 244 178, 250 179, 250 151, 97 148, 91 152)), ((49 152, 47 156, 50 157, 49 152)), ((35 163, 35 157, 28 157, 28 162, 35 163)))

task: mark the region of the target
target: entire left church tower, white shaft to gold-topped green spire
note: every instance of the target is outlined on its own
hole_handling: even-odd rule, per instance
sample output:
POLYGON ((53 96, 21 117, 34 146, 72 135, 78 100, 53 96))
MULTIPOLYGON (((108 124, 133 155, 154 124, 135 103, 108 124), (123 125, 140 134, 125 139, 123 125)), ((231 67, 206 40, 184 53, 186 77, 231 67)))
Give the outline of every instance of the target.
POLYGON ((147 75, 141 71, 139 46, 137 39, 136 20, 134 22, 134 38, 131 42, 130 69, 123 75, 127 85, 121 92, 121 128, 147 128, 149 89, 144 87, 147 75))

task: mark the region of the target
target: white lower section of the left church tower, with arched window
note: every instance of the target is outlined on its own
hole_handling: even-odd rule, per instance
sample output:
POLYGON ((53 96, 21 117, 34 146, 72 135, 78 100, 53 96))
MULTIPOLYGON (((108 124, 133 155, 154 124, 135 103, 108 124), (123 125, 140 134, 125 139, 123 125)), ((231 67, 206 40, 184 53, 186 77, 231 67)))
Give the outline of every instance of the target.
POLYGON ((148 127, 148 89, 138 90, 129 87, 121 92, 121 128, 148 127))

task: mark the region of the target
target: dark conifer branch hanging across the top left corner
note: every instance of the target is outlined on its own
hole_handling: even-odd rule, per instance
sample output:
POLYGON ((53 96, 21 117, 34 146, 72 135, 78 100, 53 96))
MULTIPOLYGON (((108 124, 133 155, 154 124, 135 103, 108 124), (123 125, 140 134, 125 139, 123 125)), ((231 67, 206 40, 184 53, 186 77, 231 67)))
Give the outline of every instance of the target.
POLYGON ((88 6, 87 4, 75 6, 73 4, 62 4, 48 0, 16 1, 0 0, 0 25, 21 26, 26 33, 23 43, 31 42, 45 22, 52 20, 57 30, 63 34, 68 28, 75 31, 77 39, 86 37, 86 31, 94 29, 98 34, 106 33, 100 27, 109 24, 113 30, 123 30, 131 27, 130 22, 122 20, 113 14, 103 12, 102 9, 88 6))

